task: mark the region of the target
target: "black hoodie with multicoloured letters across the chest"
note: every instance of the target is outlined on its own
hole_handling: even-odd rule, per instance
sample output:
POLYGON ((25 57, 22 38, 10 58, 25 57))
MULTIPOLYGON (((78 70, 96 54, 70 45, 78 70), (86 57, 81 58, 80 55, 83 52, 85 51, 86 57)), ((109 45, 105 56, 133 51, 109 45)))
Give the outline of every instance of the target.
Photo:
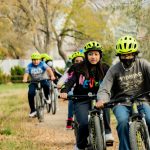
POLYGON ((68 70, 68 80, 62 86, 61 93, 68 93, 74 86, 74 95, 96 94, 109 66, 101 62, 91 65, 87 61, 73 65, 68 70))

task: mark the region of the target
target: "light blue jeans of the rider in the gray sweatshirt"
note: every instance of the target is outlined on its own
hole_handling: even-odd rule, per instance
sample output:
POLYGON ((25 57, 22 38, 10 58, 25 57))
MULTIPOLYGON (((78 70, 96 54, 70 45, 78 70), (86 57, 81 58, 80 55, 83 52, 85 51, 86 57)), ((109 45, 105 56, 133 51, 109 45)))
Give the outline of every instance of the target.
MULTIPOLYGON (((145 119, 150 132, 150 106, 143 104, 138 107, 140 112, 145 113, 145 119)), ((117 119, 117 132, 119 137, 119 150, 130 150, 129 143, 129 116, 131 114, 131 107, 124 105, 117 105, 113 108, 113 112, 117 119)))

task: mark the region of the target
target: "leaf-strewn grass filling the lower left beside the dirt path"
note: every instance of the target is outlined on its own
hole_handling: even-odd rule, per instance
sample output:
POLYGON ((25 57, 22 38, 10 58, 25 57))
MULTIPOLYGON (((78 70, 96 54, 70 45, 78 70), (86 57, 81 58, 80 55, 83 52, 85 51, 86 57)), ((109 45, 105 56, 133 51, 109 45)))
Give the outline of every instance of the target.
POLYGON ((28 118, 27 87, 28 84, 0 85, 0 150, 66 150, 72 147, 73 143, 66 143, 72 139, 72 134, 39 126, 37 118, 28 118))

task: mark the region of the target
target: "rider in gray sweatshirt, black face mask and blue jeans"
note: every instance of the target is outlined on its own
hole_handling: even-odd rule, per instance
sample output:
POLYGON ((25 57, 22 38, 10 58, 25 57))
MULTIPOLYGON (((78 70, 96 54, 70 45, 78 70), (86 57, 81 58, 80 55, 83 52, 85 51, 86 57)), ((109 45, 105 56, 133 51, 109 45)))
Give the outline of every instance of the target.
MULTIPOLYGON (((110 99, 132 97, 150 90, 150 63, 137 57, 138 43, 132 36, 123 36, 116 43, 116 56, 120 61, 110 67, 98 90, 97 107, 110 99)), ((139 111, 145 113, 150 132, 150 106, 144 103, 139 111)), ((129 123, 131 107, 127 103, 116 105, 113 112, 117 119, 119 150, 130 150, 129 123)))

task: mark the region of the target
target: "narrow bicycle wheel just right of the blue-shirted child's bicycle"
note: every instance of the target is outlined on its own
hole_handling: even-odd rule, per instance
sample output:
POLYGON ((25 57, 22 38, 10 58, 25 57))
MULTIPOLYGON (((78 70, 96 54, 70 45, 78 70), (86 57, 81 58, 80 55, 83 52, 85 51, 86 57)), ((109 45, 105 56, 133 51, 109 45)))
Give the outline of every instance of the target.
POLYGON ((57 93, 55 92, 55 88, 53 83, 51 83, 51 89, 50 89, 50 96, 51 96, 51 108, 52 108, 52 114, 56 114, 56 100, 57 100, 57 93))

